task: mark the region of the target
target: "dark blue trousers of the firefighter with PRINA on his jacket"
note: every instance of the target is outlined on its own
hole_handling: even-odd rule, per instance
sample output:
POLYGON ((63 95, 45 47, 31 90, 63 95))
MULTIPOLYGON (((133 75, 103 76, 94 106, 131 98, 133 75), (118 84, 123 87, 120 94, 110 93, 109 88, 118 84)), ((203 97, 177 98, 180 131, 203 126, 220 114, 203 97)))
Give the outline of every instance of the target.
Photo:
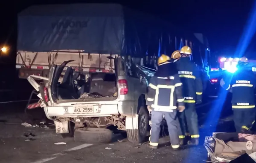
POLYGON ((187 130, 191 138, 199 138, 198 115, 195 109, 195 103, 185 103, 185 110, 179 113, 180 129, 182 134, 180 139, 185 138, 187 130))

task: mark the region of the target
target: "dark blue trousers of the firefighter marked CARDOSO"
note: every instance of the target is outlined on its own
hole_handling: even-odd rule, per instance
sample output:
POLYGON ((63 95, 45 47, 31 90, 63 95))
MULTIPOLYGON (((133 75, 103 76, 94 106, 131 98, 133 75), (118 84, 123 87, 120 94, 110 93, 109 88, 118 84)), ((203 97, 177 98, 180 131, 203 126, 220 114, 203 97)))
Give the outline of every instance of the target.
POLYGON ((256 109, 233 109, 236 132, 250 130, 255 120, 256 109))

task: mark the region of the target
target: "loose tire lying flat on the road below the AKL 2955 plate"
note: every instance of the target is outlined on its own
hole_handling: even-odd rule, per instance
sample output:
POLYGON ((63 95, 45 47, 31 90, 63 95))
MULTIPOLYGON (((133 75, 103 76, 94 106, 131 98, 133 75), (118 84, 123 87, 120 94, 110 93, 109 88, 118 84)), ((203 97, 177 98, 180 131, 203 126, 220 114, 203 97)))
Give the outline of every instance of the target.
POLYGON ((84 143, 110 143, 112 131, 102 128, 79 128, 75 130, 74 140, 84 143))

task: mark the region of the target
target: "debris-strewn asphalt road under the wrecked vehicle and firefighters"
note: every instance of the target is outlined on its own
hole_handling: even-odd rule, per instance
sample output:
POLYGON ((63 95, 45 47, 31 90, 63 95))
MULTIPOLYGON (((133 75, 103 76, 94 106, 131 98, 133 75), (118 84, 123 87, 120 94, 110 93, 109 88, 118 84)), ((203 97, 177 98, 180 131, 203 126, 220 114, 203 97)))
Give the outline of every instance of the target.
POLYGON ((198 107, 201 144, 197 147, 185 146, 183 150, 173 151, 167 136, 160 139, 159 149, 152 150, 147 147, 148 142, 130 143, 120 134, 113 134, 109 144, 84 144, 73 138, 63 139, 51 125, 49 129, 21 125, 23 122, 39 124, 44 119, 42 109, 29 111, 34 117, 27 118, 23 113, 25 106, 26 103, 0 104, 0 163, 204 163, 207 160, 204 136, 214 131, 227 132, 233 127, 232 118, 227 116, 220 120, 211 116, 211 123, 208 123, 206 117, 209 117, 211 104, 205 104, 198 107), (27 137, 30 133, 32 136, 27 137), (55 144, 60 142, 66 144, 55 144))

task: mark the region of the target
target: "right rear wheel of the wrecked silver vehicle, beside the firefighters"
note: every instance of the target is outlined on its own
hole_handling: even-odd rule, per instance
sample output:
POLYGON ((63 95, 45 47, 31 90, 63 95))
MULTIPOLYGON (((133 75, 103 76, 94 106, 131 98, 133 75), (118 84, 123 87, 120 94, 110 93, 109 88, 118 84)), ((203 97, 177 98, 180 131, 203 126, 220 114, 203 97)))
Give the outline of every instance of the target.
POLYGON ((139 118, 138 118, 138 127, 139 129, 128 129, 127 138, 129 142, 133 143, 142 143, 145 140, 148 132, 148 111, 145 109, 145 106, 140 107, 139 118))

